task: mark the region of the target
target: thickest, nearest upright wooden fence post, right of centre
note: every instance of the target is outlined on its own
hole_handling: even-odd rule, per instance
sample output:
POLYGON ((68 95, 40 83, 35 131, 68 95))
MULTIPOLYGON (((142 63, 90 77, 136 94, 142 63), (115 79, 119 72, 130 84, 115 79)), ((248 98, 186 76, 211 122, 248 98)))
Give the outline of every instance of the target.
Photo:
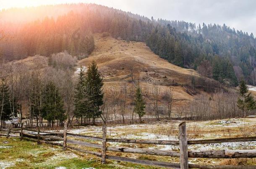
POLYGON ((188 169, 188 140, 186 122, 179 125, 180 169, 188 169))

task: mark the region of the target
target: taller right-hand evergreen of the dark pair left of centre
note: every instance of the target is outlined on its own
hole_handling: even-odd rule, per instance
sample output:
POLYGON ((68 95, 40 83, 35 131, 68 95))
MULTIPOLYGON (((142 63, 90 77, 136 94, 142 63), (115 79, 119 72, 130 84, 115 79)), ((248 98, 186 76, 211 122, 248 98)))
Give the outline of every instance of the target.
POLYGON ((99 73, 97 63, 92 61, 86 72, 86 86, 93 123, 95 123, 95 119, 102 114, 100 106, 103 104, 104 97, 102 91, 103 84, 103 78, 101 73, 99 73))

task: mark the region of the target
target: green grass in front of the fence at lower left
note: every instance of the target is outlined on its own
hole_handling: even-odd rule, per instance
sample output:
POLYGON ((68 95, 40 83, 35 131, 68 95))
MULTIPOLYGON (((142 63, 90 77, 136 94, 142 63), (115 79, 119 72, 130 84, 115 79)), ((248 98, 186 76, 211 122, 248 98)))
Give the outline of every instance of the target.
POLYGON ((100 158, 90 154, 68 149, 63 151, 59 146, 37 145, 36 142, 20 141, 18 138, 0 137, 0 146, 11 146, 11 148, 0 148, 0 162, 13 163, 6 169, 55 169, 59 166, 67 169, 89 167, 95 169, 159 169, 158 167, 110 160, 107 160, 107 164, 103 165, 100 158), (4 141, 8 141, 8 143, 3 144, 4 141))

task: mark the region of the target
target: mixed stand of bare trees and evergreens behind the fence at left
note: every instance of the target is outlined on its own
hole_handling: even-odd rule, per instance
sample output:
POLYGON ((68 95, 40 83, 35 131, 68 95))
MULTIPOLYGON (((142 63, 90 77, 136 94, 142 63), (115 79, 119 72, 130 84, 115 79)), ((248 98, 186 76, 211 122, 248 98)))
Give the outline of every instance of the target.
POLYGON ((42 56, 35 56, 33 64, 3 63, 0 68, 2 128, 13 117, 19 117, 19 126, 22 122, 26 126, 62 126, 70 117, 73 70, 47 66, 47 58, 42 56))

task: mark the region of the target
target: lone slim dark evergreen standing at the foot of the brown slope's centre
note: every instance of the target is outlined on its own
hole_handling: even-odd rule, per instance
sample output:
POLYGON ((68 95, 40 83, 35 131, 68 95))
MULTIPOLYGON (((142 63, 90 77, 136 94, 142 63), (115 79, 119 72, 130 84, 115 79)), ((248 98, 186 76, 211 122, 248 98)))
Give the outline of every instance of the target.
POLYGON ((135 107, 134 107, 134 112, 138 114, 138 117, 141 122, 141 117, 146 114, 145 112, 145 102, 141 93, 141 87, 137 86, 136 87, 136 93, 135 93, 135 107))

